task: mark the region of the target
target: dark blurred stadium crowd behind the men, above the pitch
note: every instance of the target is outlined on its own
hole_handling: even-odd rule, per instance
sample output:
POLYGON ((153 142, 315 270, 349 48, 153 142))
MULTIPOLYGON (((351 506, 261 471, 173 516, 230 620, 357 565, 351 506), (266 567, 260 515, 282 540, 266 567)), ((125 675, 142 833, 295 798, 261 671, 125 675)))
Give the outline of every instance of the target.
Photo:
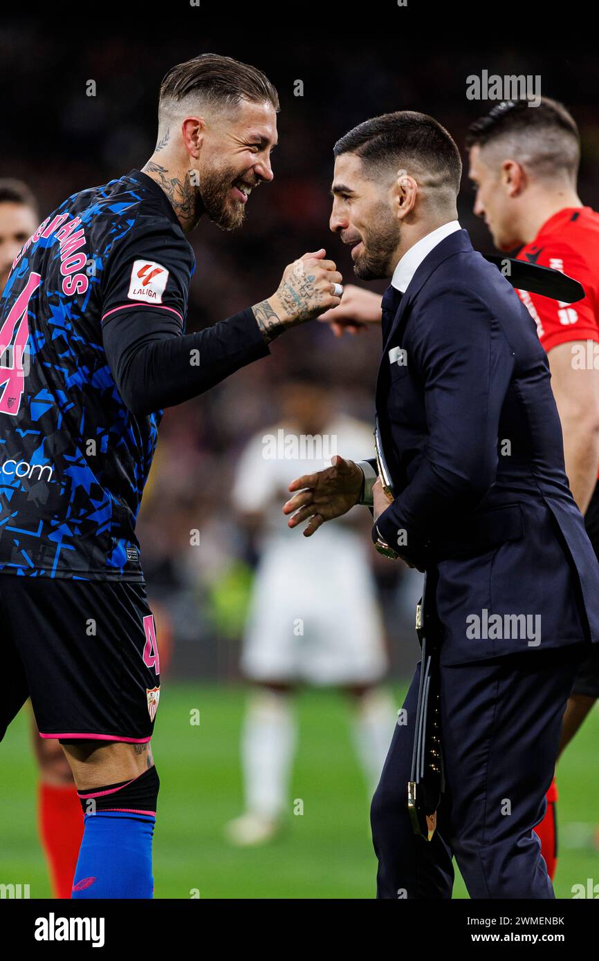
MULTIPOLYGON (((517 52, 478 47, 451 59, 444 49, 428 48, 423 70, 417 48, 400 59, 391 35, 367 43, 362 36, 337 35, 331 51, 315 45, 313 37, 297 36, 284 44, 267 37, 250 41, 243 34, 224 49, 222 32, 211 34, 210 26, 203 26, 209 20, 199 12, 195 22, 177 40, 148 31, 125 39, 98 29, 84 48, 65 43, 62 34, 41 24, 15 21, 0 29, 0 78, 7 94, 0 176, 25 180, 41 215, 76 190, 143 165, 155 143, 160 81, 173 63, 206 51, 228 54, 261 67, 278 87, 282 110, 273 184, 252 196, 246 224, 237 233, 219 232, 202 221, 189 237, 197 268, 188 331, 269 296, 288 262, 321 246, 351 283, 348 254, 327 226, 337 137, 368 116, 414 109, 432 113, 461 143, 468 123, 489 106, 465 96, 467 76, 483 68, 499 72, 501 64, 504 73, 510 64, 514 74, 533 69, 542 92, 573 112, 583 138, 581 196, 599 207, 594 176, 599 117, 591 92, 599 62, 590 54, 579 51, 570 73, 567 62, 558 69, 547 53, 522 47, 517 52)), ((486 228, 471 212, 465 172, 460 215, 475 246, 490 251, 486 228)), ((384 289, 384 284, 374 286, 384 289)), ((298 366, 310 367, 339 410, 370 422, 379 354, 374 331, 337 340, 327 325, 312 323, 276 341, 270 358, 165 412, 138 534, 159 637, 170 634, 175 642, 175 675, 226 679, 237 674, 257 546, 238 523, 230 492, 245 444, 280 417, 282 385, 293 380, 298 366), (192 543, 196 530, 198 544, 192 543)), ((282 514, 280 523, 286 524, 282 514)), ((412 602, 417 584, 403 565, 372 555, 389 633, 392 628, 392 669, 401 675, 416 651, 412 602)))

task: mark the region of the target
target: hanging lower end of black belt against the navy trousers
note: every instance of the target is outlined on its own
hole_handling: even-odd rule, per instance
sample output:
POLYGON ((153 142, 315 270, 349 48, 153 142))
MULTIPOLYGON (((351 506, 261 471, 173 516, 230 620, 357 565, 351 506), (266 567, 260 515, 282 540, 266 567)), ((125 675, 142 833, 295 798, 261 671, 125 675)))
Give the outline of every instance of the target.
POLYGON ((416 606, 416 633, 422 648, 420 683, 414 726, 412 771, 408 782, 408 810, 414 834, 431 841, 437 827, 437 808, 445 790, 441 752, 440 630, 435 590, 437 571, 424 576, 422 598, 416 606))

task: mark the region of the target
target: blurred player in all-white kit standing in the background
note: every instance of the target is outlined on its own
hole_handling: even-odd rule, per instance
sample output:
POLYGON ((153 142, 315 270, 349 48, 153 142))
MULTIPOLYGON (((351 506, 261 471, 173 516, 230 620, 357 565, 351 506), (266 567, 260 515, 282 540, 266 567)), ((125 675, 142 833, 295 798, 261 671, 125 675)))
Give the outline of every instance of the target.
POLYGON ((393 702, 380 687, 387 654, 363 531, 355 523, 331 524, 321 538, 300 543, 280 509, 289 477, 328 466, 337 450, 371 456, 372 429, 338 413, 331 391, 301 374, 281 394, 282 420, 249 442, 232 495, 261 537, 241 655, 243 674, 253 683, 241 736, 245 810, 226 826, 229 840, 242 846, 270 840, 288 810, 296 748, 292 700, 299 685, 347 694, 369 790, 395 721, 393 702))

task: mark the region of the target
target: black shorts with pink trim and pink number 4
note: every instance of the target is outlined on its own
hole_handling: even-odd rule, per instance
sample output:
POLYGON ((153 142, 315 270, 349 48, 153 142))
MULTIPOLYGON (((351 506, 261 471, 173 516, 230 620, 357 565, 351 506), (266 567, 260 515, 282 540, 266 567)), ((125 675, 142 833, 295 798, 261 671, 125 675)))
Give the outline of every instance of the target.
POLYGON ((145 584, 2 574, 0 624, 0 740, 28 697, 41 737, 150 740, 161 678, 145 584))

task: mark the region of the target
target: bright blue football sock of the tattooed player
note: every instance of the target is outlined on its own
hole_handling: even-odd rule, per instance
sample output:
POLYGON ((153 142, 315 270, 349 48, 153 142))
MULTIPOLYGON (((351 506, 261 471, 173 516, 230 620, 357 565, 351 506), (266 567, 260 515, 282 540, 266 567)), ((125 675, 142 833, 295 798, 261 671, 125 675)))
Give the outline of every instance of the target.
POLYGON ((86 814, 72 898, 152 898, 155 823, 150 814, 86 814))

